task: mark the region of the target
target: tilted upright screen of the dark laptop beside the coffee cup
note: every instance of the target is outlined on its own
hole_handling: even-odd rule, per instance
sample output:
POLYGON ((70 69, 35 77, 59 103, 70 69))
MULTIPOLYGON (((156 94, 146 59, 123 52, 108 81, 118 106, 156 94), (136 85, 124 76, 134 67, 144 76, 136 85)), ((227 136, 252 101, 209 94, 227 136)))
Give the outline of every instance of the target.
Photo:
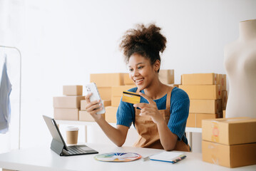
POLYGON ((68 150, 68 147, 66 146, 66 143, 63 140, 63 137, 61 135, 60 130, 58 129, 58 125, 56 124, 55 120, 46 115, 43 115, 43 119, 46 122, 48 130, 50 130, 50 133, 51 133, 51 136, 53 137, 53 139, 57 140, 59 143, 63 144, 64 149, 68 150))

